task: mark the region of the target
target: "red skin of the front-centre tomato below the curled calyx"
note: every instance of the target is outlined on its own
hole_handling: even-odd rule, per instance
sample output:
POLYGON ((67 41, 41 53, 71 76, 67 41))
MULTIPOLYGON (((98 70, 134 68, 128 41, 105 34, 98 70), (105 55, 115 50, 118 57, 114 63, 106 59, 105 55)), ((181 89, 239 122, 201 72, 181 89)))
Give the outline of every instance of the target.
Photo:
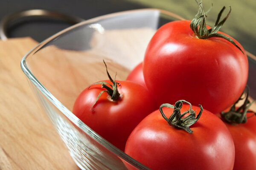
MULTIPOLYGON (((189 105, 183 105, 181 113, 188 108, 189 105)), ((200 111, 198 107, 192 108, 196 113, 200 111)), ((167 117, 172 111, 163 108, 167 117)), ((152 170, 232 170, 234 144, 221 119, 204 110, 190 128, 191 134, 172 127, 160 111, 154 111, 133 130, 125 153, 152 170)))

